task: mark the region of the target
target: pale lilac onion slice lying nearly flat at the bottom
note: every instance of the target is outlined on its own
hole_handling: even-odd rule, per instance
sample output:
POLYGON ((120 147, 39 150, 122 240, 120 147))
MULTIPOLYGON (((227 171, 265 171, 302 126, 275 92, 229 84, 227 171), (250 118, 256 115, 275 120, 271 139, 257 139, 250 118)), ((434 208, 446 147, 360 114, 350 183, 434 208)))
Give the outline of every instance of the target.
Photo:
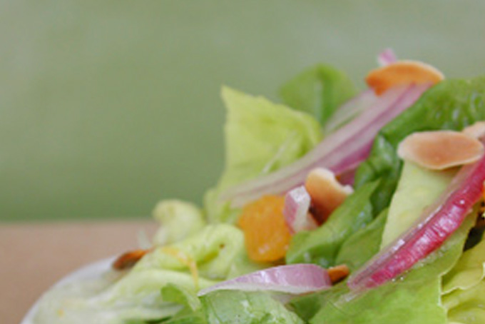
POLYGON ((299 295, 332 287, 327 270, 313 264, 280 265, 217 283, 200 290, 205 295, 215 290, 270 290, 299 295))

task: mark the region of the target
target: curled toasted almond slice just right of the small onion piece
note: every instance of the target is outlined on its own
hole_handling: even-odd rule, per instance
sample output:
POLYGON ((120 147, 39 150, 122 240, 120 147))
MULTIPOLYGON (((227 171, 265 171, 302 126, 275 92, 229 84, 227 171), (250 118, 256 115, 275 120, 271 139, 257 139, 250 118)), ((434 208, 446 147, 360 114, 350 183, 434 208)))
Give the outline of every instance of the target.
POLYGON ((316 211, 320 221, 325 221, 353 192, 351 186, 342 186, 335 178, 335 174, 327 168, 315 168, 310 171, 305 188, 312 198, 312 209, 316 211))

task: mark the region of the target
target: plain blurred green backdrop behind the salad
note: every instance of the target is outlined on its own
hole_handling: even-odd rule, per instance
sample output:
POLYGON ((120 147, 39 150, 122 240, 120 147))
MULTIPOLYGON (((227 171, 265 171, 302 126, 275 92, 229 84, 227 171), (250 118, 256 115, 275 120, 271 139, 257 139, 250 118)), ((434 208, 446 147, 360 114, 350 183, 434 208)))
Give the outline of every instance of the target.
POLYGON ((485 1, 0 1, 0 220, 146 216, 223 168, 225 83, 277 99, 387 46, 485 71, 485 1))

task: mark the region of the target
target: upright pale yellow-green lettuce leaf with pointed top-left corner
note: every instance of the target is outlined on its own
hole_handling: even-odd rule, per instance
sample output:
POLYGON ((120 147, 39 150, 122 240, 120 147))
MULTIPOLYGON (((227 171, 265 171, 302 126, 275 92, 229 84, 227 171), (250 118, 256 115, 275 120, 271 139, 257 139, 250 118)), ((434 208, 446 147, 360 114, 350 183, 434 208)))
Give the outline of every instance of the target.
POLYGON ((225 168, 205 197, 212 222, 234 222, 238 211, 218 202, 224 189, 292 163, 322 139, 320 124, 307 113, 224 87, 225 168))

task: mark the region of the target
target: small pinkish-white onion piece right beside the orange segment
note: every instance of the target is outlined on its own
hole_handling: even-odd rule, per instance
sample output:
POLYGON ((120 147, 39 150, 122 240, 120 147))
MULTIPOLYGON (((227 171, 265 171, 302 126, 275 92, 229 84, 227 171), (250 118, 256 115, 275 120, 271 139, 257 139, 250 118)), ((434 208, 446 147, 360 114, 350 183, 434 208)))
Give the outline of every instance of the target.
POLYGON ((285 196, 285 208, 283 215, 291 233, 310 231, 318 227, 315 220, 308 212, 310 209, 310 195, 304 186, 288 191, 285 196))

